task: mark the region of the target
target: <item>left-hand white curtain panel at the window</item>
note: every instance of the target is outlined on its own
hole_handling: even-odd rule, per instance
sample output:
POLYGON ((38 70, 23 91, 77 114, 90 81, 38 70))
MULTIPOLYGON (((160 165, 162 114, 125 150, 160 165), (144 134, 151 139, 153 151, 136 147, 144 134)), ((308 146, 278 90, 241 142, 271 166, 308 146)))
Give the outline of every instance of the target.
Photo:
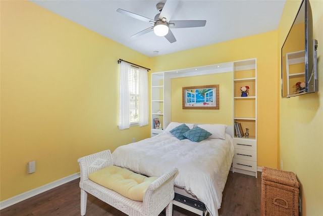
POLYGON ((128 88, 128 71, 130 65, 121 62, 120 64, 120 110, 119 110, 119 129, 127 129, 130 127, 130 102, 128 88))

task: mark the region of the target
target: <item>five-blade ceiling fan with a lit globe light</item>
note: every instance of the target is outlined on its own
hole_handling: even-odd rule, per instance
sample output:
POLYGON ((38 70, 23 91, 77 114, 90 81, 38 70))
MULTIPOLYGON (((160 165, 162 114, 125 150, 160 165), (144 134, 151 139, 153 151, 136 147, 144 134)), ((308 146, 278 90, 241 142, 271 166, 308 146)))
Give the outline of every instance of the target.
POLYGON ((176 10, 178 2, 179 1, 166 1, 166 3, 157 3, 156 9, 159 13, 155 16, 154 20, 120 8, 117 12, 153 24, 153 26, 140 31, 131 37, 140 36, 153 30, 157 36, 165 36, 168 41, 173 43, 176 41, 176 38, 170 28, 203 27, 206 24, 206 20, 170 20, 176 10))

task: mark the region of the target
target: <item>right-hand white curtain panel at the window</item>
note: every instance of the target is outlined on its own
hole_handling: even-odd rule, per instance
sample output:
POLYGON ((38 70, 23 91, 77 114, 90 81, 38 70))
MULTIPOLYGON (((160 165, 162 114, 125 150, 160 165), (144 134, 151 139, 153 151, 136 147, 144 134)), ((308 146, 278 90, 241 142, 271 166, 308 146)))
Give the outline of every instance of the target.
POLYGON ((148 74, 147 70, 139 69, 139 126, 148 124, 148 74))

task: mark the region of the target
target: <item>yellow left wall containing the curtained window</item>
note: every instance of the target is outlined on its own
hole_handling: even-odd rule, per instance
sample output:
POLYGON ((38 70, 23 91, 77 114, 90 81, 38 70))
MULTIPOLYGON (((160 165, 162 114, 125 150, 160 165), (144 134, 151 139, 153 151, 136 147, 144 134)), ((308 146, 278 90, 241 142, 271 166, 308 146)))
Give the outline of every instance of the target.
POLYGON ((81 156, 149 137, 150 126, 117 127, 119 58, 149 67, 29 1, 1 1, 1 200, 75 174, 81 156))

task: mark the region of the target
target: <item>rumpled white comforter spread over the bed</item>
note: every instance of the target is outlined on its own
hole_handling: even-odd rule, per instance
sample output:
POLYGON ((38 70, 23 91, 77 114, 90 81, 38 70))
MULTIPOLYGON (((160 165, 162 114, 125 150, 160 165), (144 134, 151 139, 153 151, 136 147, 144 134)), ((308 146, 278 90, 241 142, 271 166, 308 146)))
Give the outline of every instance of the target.
POLYGON ((234 155, 232 138, 207 138, 199 143, 159 134, 120 146, 113 152, 115 165, 147 176, 161 176, 173 167, 179 172, 174 184, 203 202, 213 216, 221 207, 222 192, 234 155))

